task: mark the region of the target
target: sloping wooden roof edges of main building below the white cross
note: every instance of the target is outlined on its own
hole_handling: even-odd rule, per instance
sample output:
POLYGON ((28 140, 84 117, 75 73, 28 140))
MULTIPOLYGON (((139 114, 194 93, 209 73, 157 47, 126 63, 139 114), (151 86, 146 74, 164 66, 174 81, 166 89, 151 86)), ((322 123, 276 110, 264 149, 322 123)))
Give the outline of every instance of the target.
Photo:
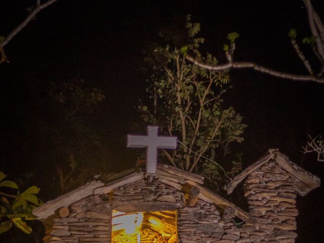
MULTIPOLYGON (((66 193, 65 195, 48 201, 44 205, 34 209, 33 214, 37 216, 37 219, 46 219, 49 216, 54 215, 55 211, 61 207, 68 207, 75 201, 90 195, 109 193, 116 187, 144 179, 144 176, 145 175, 140 168, 132 168, 118 174, 111 175, 108 178, 101 179, 107 183, 103 183, 102 181, 89 182, 82 187, 66 193)), ((185 193, 190 192, 192 186, 197 186, 200 189, 198 198, 205 200, 208 203, 215 204, 221 209, 231 207, 234 209, 236 217, 245 220, 247 223, 254 223, 254 219, 250 216, 250 214, 203 187, 202 184, 204 183, 204 177, 202 176, 188 173, 172 166, 158 164, 155 177, 160 182, 184 191, 185 193)))

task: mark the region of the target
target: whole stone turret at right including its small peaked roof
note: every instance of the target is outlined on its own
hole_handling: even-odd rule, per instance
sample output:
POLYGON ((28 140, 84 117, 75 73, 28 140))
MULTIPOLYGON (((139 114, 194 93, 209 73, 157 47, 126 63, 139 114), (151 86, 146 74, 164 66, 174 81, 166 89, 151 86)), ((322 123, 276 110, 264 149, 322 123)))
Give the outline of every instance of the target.
POLYGON ((245 178, 245 196, 256 224, 242 227, 241 234, 250 242, 294 243, 297 194, 305 195, 318 187, 319 178, 274 149, 235 177, 227 186, 228 193, 245 178))

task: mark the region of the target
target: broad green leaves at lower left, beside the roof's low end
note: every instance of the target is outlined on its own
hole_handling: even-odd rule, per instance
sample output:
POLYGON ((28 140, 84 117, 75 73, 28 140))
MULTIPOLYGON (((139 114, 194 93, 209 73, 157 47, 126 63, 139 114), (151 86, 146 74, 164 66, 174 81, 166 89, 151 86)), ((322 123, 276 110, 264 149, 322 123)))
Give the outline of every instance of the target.
POLYGON ((12 225, 29 234, 32 229, 25 221, 35 220, 36 218, 32 215, 32 210, 43 204, 42 200, 36 196, 39 188, 31 186, 20 193, 18 185, 13 181, 4 180, 5 178, 6 175, 0 172, 0 187, 14 189, 16 194, 8 194, 3 190, 0 191, 0 195, 3 195, 0 201, 0 234, 10 230, 12 225))

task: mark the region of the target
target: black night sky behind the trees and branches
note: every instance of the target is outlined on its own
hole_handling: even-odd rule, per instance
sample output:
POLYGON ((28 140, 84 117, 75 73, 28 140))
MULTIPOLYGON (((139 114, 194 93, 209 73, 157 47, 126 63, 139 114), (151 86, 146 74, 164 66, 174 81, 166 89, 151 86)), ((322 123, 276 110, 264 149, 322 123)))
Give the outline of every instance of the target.
MULTIPOLYGON (((34 2, 1 1, 0 35, 16 27, 25 18, 26 8, 34 2)), ((323 2, 312 3, 324 18, 323 2)), ((297 29, 300 42, 310 35, 301 0, 110 3, 58 0, 36 15, 5 47, 10 63, 0 64, 0 169, 9 175, 31 171, 36 171, 38 178, 51 175, 51 171, 44 169, 46 160, 37 161, 33 155, 46 153, 46 145, 41 144, 46 144, 48 138, 37 137, 39 146, 23 146, 34 134, 28 129, 34 118, 50 117, 48 110, 39 108, 46 97, 43 93, 46 84, 69 79, 84 79, 105 92, 105 101, 88 119, 88 124, 104 138, 111 151, 107 157, 111 171, 130 168, 134 158, 125 148, 125 135, 138 119, 135 110, 138 100, 146 96, 143 51, 158 41, 161 27, 186 14, 192 15, 193 22, 201 23, 199 35, 206 38, 203 52, 212 53, 220 63, 226 61, 222 50, 226 35, 235 31, 240 35, 235 60, 307 74, 287 35, 290 28, 297 29)), ((301 44, 301 47, 310 60, 315 60, 306 46, 301 44)), ((324 163, 317 162, 315 155, 303 155, 300 151, 307 134, 324 132, 324 85, 278 79, 251 70, 232 70, 230 78, 233 88, 228 91, 225 103, 233 106, 248 125, 245 142, 240 146, 245 154, 244 168, 269 148, 279 148, 323 181, 324 163)), ((42 188, 41 179, 33 182, 42 188)), ((299 198, 297 242, 322 242, 319 236, 324 230, 323 188, 299 198)), ((41 191, 41 197, 51 196, 41 191)))

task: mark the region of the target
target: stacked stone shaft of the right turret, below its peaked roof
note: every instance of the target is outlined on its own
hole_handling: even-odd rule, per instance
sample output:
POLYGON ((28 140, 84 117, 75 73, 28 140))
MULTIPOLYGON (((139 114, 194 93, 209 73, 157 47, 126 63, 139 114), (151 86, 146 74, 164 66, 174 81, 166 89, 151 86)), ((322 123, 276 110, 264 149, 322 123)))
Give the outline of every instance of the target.
POLYGON ((290 174, 269 161, 248 176, 245 186, 250 214, 257 223, 240 229, 246 238, 240 242, 295 242, 297 194, 290 174))

